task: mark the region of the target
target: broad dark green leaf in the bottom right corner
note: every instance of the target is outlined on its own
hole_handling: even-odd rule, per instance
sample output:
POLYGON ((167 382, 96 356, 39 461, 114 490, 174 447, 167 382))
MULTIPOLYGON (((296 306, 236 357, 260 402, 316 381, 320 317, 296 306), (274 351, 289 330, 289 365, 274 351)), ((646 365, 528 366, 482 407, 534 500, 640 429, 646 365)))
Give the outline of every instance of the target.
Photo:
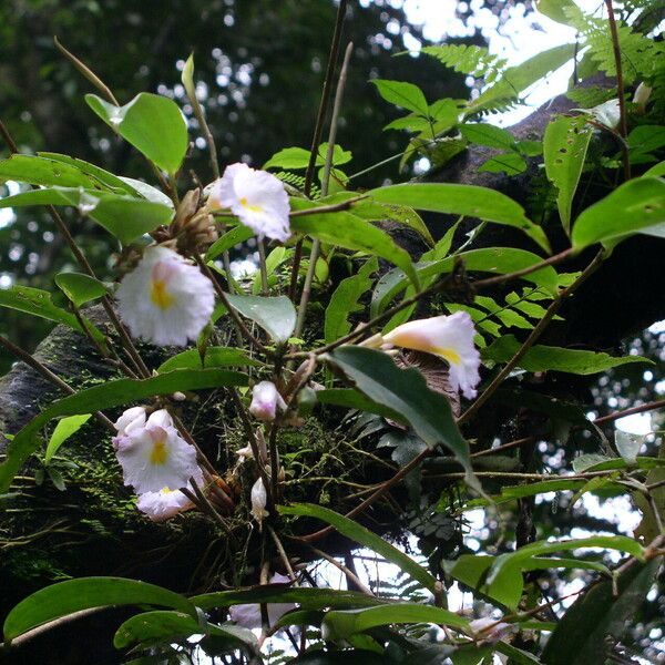
POLYGON ((658 559, 634 564, 612 581, 592 586, 556 624, 542 655, 545 665, 589 665, 605 659, 608 644, 620 640, 644 603, 659 567, 658 559), (611 638, 608 642, 607 638, 611 638))

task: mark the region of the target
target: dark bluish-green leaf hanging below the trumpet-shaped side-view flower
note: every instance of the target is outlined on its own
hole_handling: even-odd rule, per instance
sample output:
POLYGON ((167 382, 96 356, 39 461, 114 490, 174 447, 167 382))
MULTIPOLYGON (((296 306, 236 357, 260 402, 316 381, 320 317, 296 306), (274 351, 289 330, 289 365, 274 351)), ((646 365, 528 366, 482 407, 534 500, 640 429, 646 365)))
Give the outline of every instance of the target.
POLYGON ((430 390, 420 371, 399 369, 387 354, 364 347, 342 346, 327 359, 371 400, 401 413, 430 448, 446 446, 466 470, 467 482, 479 489, 469 443, 454 422, 450 405, 443 395, 430 390))

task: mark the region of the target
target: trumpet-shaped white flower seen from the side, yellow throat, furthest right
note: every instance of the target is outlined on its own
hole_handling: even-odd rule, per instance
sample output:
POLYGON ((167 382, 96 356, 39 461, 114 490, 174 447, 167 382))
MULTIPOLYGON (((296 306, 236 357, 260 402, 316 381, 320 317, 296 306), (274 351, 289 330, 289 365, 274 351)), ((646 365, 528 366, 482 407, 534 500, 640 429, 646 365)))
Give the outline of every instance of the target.
POLYGON ((395 346, 424 351, 443 358, 450 366, 450 383, 464 397, 475 397, 480 381, 480 354, 473 346, 475 328, 466 311, 451 316, 434 316, 402 324, 383 336, 395 346))

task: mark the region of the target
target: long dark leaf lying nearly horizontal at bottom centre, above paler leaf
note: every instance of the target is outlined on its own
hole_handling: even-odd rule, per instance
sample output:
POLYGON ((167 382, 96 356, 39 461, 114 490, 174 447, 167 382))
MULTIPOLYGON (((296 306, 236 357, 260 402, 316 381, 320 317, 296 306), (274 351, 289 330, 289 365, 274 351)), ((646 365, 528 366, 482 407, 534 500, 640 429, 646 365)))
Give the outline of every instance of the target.
POLYGON ((379 598, 358 591, 297 587, 287 584, 263 584, 250 589, 204 593, 191 597, 190 601, 206 611, 247 603, 298 603, 303 610, 324 610, 326 607, 368 607, 381 602, 379 598))

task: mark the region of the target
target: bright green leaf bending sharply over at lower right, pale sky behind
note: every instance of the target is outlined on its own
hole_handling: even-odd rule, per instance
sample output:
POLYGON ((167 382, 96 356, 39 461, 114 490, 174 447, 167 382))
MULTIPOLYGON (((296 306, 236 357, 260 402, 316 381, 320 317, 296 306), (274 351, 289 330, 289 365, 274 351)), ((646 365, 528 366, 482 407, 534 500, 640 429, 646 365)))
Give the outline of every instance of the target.
POLYGON ((521 597, 522 570, 534 556, 583 548, 618 550, 641 561, 644 559, 644 548, 636 540, 625 535, 595 535, 557 542, 539 541, 497 556, 487 575, 487 592, 508 607, 515 608, 521 597))

